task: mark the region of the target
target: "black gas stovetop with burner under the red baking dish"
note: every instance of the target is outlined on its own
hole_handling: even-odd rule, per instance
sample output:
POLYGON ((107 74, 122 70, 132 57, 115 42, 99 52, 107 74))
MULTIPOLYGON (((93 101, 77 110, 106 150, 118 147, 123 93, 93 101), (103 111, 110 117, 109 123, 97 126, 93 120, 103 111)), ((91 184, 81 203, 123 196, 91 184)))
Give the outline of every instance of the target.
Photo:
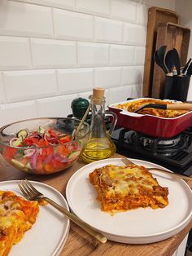
POLYGON ((117 152, 126 157, 151 161, 175 173, 192 175, 192 128, 173 138, 160 139, 116 127, 111 139, 116 143, 117 152))

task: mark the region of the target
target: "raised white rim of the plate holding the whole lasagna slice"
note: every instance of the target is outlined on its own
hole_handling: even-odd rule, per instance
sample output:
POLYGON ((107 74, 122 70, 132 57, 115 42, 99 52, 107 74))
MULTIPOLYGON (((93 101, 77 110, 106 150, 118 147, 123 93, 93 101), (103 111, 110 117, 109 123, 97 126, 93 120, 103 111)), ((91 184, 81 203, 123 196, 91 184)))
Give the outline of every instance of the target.
MULTIPOLYGON (((82 170, 84 170, 84 169, 86 169, 87 168, 87 166, 88 166, 88 168, 89 168, 89 166, 97 166, 97 164, 99 165, 99 163, 105 163, 105 162, 107 162, 107 161, 120 161, 120 158, 122 158, 122 157, 114 157, 114 158, 107 158, 107 159, 103 159, 103 160, 99 160, 99 161, 94 161, 94 162, 91 162, 91 163, 89 163, 89 164, 87 164, 86 166, 82 166, 80 169, 78 169, 78 170, 76 170, 76 172, 74 173, 74 174, 72 174, 72 176, 70 177, 70 179, 68 179, 68 183, 67 183, 67 186, 66 186, 66 198, 67 198, 67 201, 68 201, 68 205, 69 205, 69 207, 70 207, 70 209, 72 210, 72 212, 74 213, 74 214, 76 214, 77 216, 78 216, 78 214, 76 213, 76 210, 73 210, 72 209, 72 207, 71 207, 71 205, 72 205, 72 203, 71 203, 71 201, 69 200, 69 193, 70 193, 70 191, 69 191, 69 187, 70 187, 70 183, 72 183, 72 179, 74 179, 74 177, 76 177, 76 176, 78 176, 78 174, 81 174, 81 172, 82 172, 82 170)), ((140 160, 140 159, 136 159, 136 158, 129 158, 129 157, 127 157, 130 161, 142 161, 143 163, 146 163, 146 164, 151 164, 151 165, 153 165, 153 166, 155 166, 155 167, 161 167, 161 168, 163 168, 164 170, 168 170, 167 168, 165 168, 164 166, 159 166, 158 164, 155 164, 155 163, 153 163, 153 162, 151 162, 151 161, 144 161, 144 160, 140 160)), ((108 163, 109 164, 109 163, 108 163)), ((123 163, 122 163, 123 164, 123 163)), ((95 168, 97 168, 97 167, 95 167, 95 168)), ((172 171, 171 170, 168 170, 170 173, 172 173, 172 171)), ((168 174, 163 174, 162 173, 162 178, 164 178, 164 179, 166 179, 166 175, 168 175, 168 174)), ((190 196, 191 196, 191 199, 192 199, 192 190, 191 190, 191 188, 190 188, 190 186, 187 184, 187 183, 185 183, 185 181, 183 180, 183 179, 176 179, 176 181, 177 181, 177 183, 181 183, 181 185, 182 185, 182 187, 183 186, 185 186, 186 188, 187 188, 187 194, 188 193, 190 193, 190 196)), ((191 208, 192 209, 192 208, 191 208)), ((78 216, 79 217, 79 216, 78 216)), ((80 218, 80 217, 79 217, 80 218)), ((124 236, 124 235, 117 235, 116 233, 114 233, 114 232, 106 232, 106 231, 103 231, 102 229, 98 229, 97 227, 94 227, 94 226, 92 226, 92 227, 94 227, 94 228, 96 228, 96 229, 98 229, 98 231, 99 232, 103 232, 104 234, 106 234, 106 235, 108 235, 108 236, 116 236, 116 237, 120 237, 120 238, 122 238, 123 240, 124 239, 147 239, 147 238, 151 238, 151 237, 155 237, 155 238, 158 238, 159 236, 162 236, 162 235, 168 235, 170 232, 174 232, 174 231, 176 231, 176 234, 177 234, 177 232, 180 232, 183 228, 185 228, 186 227, 186 225, 188 224, 188 223, 190 223, 190 220, 191 220, 191 218, 192 218, 192 210, 191 210, 191 212, 190 212, 190 214, 188 214, 187 215, 187 217, 183 220, 183 221, 181 221, 181 223, 179 223, 179 224, 177 224, 177 226, 175 226, 174 228, 169 228, 167 231, 165 231, 165 232, 155 232, 155 233, 153 233, 153 234, 150 234, 150 235, 142 235, 142 236, 139 236, 139 235, 129 235, 129 236, 124 236)), ((85 221, 85 219, 83 219, 83 221, 85 221)), ((86 221, 85 221, 86 222, 86 221)), ((89 223, 89 225, 90 225, 90 223, 89 223)), ((173 236, 173 235, 172 235, 173 236)), ((168 236, 168 237, 170 237, 170 236, 168 236)), ((168 237, 166 237, 166 238, 164 238, 164 239, 167 239, 168 237)), ((162 241, 162 240, 164 240, 164 239, 160 239, 160 240, 155 240, 155 241, 162 241)), ((116 241, 116 240, 114 240, 114 241, 116 241)), ((123 241, 124 242, 124 241, 123 241)), ((143 242, 143 243, 146 243, 146 241, 145 242, 143 242)), ((139 242, 137 242, 137 244, 139 244, 139 242)))

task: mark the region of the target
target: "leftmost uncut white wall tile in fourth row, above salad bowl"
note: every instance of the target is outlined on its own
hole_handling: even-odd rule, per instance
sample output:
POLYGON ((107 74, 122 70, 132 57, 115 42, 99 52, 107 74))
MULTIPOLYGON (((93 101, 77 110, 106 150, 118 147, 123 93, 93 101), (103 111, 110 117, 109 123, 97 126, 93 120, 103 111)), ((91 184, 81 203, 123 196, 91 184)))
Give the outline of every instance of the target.
POLYGON ((3 80, 7 102, 57 94, 55 70, 9 71, 3 73, 3 80))

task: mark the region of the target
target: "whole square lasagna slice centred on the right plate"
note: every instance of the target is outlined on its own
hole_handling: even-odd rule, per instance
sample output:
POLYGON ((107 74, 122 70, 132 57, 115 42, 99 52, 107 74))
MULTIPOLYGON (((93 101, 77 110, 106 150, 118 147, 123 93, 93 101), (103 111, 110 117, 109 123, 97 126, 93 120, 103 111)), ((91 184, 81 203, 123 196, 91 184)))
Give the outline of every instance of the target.
POLYGON ((104 211, 168 205, 168 188, 162 188, 144 166, 103 166, 89 174, 89 181, 96 188, 104 211))

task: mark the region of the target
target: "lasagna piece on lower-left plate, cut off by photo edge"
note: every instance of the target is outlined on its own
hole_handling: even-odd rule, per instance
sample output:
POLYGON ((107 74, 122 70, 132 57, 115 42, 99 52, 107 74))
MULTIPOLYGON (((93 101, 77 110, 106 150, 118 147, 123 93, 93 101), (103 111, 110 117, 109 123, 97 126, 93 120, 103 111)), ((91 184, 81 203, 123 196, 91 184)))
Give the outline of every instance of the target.
POLYGON ((14 192, 0 191, 0 255, 6 256, 36 222, 37 201, 26 201, 14 192))

